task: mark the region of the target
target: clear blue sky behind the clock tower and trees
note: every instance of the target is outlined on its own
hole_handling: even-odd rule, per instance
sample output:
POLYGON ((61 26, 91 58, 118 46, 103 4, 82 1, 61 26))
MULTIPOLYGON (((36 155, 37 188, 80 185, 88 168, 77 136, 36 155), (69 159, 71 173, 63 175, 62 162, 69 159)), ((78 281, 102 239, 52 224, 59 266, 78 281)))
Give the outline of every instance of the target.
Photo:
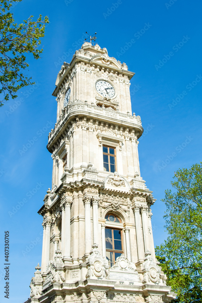
POLYGON ((152 207, 155 245, 166 238, 164 191, 174 171, 201 160, 202 135, 200 2, 23 0, 11 12, 18 23, 39 14, 48 15, 50 23, 41 42, 42 58, 28 56, 27 72, 37 85, 23 88, 17 103, 12 100, 0 109, 1 303, 7 302, 2 291, 5 230, 10 231, 9 303, 29 297, 31 277, 41 264, 42 217, 37 211, 51 187, 52 158, 46 145, 57 110, 51 94, 61 63, 71 61, 83 33, 97 32, 101 48, 136 73, 131 102, 144 127, 138 147, 141 176, 157 199, 152 207), (20 153, 29 141, 31 147, 20 153), (20 207, 13 213, 16 205, 20 207))

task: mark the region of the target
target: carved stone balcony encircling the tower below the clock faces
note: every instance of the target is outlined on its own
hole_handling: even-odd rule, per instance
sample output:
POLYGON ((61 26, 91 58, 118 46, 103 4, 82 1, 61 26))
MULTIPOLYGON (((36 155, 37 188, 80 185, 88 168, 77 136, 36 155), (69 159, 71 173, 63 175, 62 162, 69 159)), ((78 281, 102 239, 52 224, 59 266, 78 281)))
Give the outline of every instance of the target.
MULTIPOLYGON (((135 113, 130 115, 119 112, 119 110, 114 110, 112 107, 105 108, 104 106, 98 107, 93 103, 88 104, 87 100, 82 102, 81 100, 73 100, 69 102, 68 106, 63 109, 58 122, 55 123, 55 128, 51 129, 48 134, 48 145, 49 149, 55 140, 65 131, 65 129, 70 129, 72 127, 72 120, 76 120, 76 125, 79 127, 82 124, 83 128, 95 129, 96 131, 106 131, 108 126, 112 132, 115 131, 114 135, 126 135, 129 130, 133 136, 139 138, 143 133, 142 123, 140 116, 136 116, 135 113), (82 118, 82 122, 80 121, 82 118), (93 121, 95 121, 93 123, 93 121), (119 132, 119 134, 118 134, 119 132)), ((76 127, 76 125, 74 125, 76 127)), ((73 127, 74 127, 73 126, 73 127)), ((109 130, 109 129, 108 129, 109 130)), ((136 139, 137 139, 136 138, 136 139)))

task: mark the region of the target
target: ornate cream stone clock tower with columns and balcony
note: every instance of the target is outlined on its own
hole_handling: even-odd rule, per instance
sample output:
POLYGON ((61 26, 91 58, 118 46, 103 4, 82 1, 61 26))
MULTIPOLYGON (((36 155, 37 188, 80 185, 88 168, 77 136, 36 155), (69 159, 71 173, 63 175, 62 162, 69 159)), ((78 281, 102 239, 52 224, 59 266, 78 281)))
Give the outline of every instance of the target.
POLYGON ((85 42, 64 62, 48 135, 52 189, 43 216, 41 267, 30 302, 134 303, 175 298, 155 258, 151 205, 140 176, 140 116, 131 111, 125 63, 85 42))

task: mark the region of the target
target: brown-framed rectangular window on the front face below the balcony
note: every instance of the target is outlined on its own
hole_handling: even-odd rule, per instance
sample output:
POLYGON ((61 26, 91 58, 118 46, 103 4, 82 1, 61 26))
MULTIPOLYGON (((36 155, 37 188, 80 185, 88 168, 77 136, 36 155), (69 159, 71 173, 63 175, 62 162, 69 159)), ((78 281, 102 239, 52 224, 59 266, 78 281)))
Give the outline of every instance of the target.
POLYGON ((116 149, 103 146, 103 166, 104 171, 116 171, 116 149))

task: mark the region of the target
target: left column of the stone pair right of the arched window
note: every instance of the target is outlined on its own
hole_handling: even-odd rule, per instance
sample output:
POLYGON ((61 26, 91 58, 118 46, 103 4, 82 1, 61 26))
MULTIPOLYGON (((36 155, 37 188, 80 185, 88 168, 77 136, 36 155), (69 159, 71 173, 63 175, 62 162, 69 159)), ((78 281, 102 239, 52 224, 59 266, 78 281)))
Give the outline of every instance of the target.
POLYGON ((132 209, 134 211, 135 216, 135 231, 136 231, 136 239, 137 239, 137 254, 138 260, 144 259, 144 248, 141 237, 141 223, 140 223, 140 206, 138 204, 133 204, 132 209))

